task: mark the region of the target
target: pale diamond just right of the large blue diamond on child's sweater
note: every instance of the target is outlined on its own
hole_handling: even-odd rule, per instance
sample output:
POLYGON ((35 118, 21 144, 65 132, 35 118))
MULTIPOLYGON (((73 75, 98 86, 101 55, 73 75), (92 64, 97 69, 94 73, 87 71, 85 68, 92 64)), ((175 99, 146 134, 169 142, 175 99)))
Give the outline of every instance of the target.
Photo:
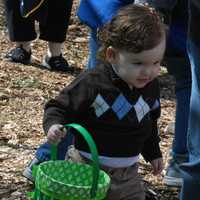
POLYGON ((134 105, 134 108, 139 122, 150 111, 149 105, 144 101, 142 96, 140 96, 137 103, 134 105))

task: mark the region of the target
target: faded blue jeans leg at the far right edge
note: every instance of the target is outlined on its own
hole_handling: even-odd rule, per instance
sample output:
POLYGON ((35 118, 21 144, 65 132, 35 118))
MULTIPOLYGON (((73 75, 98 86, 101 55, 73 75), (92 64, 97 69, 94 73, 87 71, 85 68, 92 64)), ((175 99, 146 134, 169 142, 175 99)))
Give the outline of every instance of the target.
POLYGON ((182 165, 184 181, 181 200, 198 200, 200 195, 200 47, 188 41, 192 67, 192 91, 188 124, 189 162, 182 165))

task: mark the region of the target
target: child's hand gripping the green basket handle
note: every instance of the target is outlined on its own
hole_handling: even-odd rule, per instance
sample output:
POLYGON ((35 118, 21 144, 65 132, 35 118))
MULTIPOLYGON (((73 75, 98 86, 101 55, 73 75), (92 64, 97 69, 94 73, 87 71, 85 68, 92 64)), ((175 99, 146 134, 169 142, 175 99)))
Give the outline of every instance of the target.
POLYGON ((54 124, 47 133, 47 141, 50 144, 58 144, 67 133, 66 128, 60 124, 54 124))

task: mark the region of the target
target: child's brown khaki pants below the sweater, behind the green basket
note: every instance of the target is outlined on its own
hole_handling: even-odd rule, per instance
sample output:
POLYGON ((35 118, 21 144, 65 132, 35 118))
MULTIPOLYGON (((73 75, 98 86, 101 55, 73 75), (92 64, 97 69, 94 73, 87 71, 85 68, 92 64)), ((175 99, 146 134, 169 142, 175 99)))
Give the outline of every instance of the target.
MULTIPOLYGON (((86 162, 74 148, 69 149, 68 159, 86 162)), ((138 174, 138 164, 126 168, 100 166, 111 178, 111 186, 105 200, 145 200, 144 187, 138 174)))

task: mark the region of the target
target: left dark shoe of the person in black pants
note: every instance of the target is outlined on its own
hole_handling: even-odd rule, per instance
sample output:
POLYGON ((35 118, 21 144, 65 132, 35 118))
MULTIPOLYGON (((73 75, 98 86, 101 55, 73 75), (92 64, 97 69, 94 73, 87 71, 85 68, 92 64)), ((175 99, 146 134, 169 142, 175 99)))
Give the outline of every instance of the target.
POLYGON ((31 62, 31 51, 27 52, 21 45, 11 49, 5 57, 12 62, 29 64, 31 62))

